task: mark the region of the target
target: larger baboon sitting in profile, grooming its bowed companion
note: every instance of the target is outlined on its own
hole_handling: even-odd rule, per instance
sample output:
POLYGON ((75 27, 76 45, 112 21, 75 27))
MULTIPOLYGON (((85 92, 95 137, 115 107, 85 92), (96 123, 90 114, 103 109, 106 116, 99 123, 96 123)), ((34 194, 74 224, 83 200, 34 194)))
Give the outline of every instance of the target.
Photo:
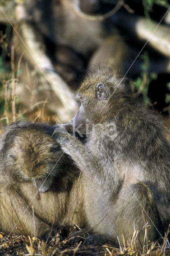
POLYGON ((57 129, 56 136, 82 170, 89 227, 115 243, 138 230, 138 245, 147 227, 153 241, 170 221, 170 146, 163 122, 107 67, 89 72, 77 97, 81 106, 71 121, 75 130, 89 130, 85 143, 57 129))

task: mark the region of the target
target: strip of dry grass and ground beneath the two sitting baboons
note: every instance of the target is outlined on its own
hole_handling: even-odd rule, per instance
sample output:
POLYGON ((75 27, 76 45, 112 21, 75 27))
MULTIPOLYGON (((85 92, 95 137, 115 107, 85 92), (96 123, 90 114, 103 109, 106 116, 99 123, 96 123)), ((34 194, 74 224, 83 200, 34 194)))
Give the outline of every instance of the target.
MULTIPOLYGON (((147 233, 147 225, 145 226, 147 233)), ((136 246, 136 237, 138 231, 134 230, 134 234, 127 242, 123 240, 123 244, 114 247, 110 244, 103 246, 83 246, 79 244, 71 245, 68 240, 59 238, 60 234, 46 244, 38 238, 30 236, 6 236, 0 233, 0 255, 24 255, 24 256, 53 256, 53 255, 103 255, 103 256, 168 256, 170 248, 168 248, 167 234, 165 234, 162 244, 158 241, 144 245, 142 248, 136 246), (36 240, 36 241, 35 241, 36 240), (36 246, 35 246, 36 243, 36 246)))

